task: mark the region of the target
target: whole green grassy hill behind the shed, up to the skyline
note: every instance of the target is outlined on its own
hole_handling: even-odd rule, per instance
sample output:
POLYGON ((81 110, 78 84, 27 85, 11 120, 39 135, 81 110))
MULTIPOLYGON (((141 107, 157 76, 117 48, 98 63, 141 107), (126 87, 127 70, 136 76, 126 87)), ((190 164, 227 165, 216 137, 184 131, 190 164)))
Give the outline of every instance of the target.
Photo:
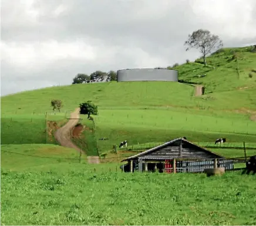
MULTIPOLYGON (((100 153, 122 140, 133 145, 180 136, 191 141, 213 141, 223 136, 230 142, 254 142, 256 126, 250 119, 256 115, 256 73, 252 72, 256 54, 249 50, 222 49, 207 58, 207 67, 201 59, 177 66, 180 79, 206 87, 203 96, 194 96, 193 85, 186 83, 109 82, 50 87, 2 97, 1 143, 48 143, 45 113, 48 117, 65 117, 84 100, 99 106, 95 124, 100 153), (63 113, 54 115, 50 109, 52 99, 63 101, 63 113), (36 121, 32 117, 41 117, 41 121, 33 126, 36 121), (99 141, 100 137, 109 140, 99 141)), ((86 124, 86 119, 83 122, 86 124)))

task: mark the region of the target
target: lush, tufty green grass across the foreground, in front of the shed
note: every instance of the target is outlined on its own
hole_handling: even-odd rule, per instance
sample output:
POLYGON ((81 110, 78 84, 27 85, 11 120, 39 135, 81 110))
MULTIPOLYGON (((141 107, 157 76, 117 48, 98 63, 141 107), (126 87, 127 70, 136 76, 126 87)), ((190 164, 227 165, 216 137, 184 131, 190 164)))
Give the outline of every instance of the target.
MULTIPOLYGON (((255 176, 1 171, 5 225, 254 225, 255 176)), ((63 168, 63 171, 59 171, 63 168)))

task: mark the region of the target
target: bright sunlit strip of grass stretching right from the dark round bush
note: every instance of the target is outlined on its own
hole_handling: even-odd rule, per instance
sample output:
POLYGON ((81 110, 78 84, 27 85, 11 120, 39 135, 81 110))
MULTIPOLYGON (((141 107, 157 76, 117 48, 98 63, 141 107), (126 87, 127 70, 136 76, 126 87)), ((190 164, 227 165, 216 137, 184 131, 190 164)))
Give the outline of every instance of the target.
POLYGON ((256 124, 251 120, 201 116, 167 110, 102 110, 96 124, 117 124, 120 127, 146 127, 173 130, 212 131, 256 135, 256 124))

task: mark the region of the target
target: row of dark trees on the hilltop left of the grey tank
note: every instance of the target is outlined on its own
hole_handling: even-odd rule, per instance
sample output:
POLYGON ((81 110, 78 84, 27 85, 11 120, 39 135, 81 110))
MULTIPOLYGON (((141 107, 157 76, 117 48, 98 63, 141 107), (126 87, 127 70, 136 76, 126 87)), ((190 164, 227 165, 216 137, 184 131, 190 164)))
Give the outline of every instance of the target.
POLYGON ((79 73, 73 78, 72 84, 90 82, 110 82, 116 81, 116 79, 117 74, 113 70, 110 70, 109 72, 102 72, 101 70, 96 70, 96 72, 93 72, 90 75, 79 73))

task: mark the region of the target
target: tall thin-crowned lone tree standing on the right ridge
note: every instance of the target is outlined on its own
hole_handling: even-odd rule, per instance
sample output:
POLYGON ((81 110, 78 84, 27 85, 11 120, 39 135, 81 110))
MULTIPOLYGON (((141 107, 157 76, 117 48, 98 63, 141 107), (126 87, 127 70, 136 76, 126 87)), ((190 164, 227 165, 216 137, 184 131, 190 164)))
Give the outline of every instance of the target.
POLYGON ((210 31, 199 29, 194 31, 192 35, 188 35, 188 40, 184 43, 187 45, 187 50, 191 48, 199 49, 203 54, 204 66, 206 66, 206 56, 213 50, 219 49, 223 46, 223 42, 217 35, 211 34, 210 31))

